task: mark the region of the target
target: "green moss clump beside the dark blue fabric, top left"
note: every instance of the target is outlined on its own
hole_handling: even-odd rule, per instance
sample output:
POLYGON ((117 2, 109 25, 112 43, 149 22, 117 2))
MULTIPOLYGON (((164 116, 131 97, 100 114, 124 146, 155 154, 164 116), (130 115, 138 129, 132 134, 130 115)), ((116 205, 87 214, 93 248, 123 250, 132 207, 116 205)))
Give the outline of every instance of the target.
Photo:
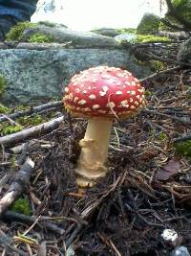
POLYGON ((29 28, 35 28, 37 25, 31 22, 19 22, 17 25, 11 28, 11 31, 6 35, 6 40, 15 41, 21 40, 23 37, 23 32, 29 28))

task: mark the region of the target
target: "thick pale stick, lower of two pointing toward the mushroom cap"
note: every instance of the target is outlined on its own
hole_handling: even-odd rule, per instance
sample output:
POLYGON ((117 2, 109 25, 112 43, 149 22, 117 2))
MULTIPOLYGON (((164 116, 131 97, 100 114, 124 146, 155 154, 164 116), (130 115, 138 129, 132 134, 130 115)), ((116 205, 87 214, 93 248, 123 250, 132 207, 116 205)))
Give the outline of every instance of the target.
POLYGON ((64 116, 61 116, 47 123, 44 123, 32 128, 26 128, 10 135, 6 135, 0 138, 0 145, 6 146, 11 144, 16 144, 26 139, 29 139, 31 137, 34 138, 42 134, 49 133, 53 129, 59 128, 63 120, 64 120, 64 116))

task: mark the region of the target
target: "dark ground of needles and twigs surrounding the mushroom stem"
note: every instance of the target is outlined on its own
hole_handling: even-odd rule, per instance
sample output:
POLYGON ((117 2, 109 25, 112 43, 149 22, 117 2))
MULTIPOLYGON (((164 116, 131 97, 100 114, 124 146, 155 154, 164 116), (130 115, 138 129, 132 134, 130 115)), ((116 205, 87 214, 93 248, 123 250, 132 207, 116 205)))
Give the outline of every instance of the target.
MULTIPOLYGON (((181 244, 191 251, 190 161, 176 153, 173 143, 191 131, 190 84, 189 70, 144 84, 147 108, 134 118, 114 124, 108 162, 111 172, 84 196, 78 194, 74 178, 77 143, 86 125, 83 120, 73 120, 71 128, 66 116, 61 128, 38 138, 23 151, 22 155, 26 153, 35 162, 35 175, 22 196, 29 199, 32 215, 39 217, 39 222, 54 222, 64 232, 53 233, 43 227, 42 221, 40 226, 36 221, 26 234, 36 242, 14 238, 17 247, 26 255, 36 255, 39 247, 45 252, 46 247, 45 254, 38 254, 41 256, 66 255, 70 244, 77 256, 165 256, 172 248, 162 242, 161 233, 173 228, 182 237, 181 244), (42 148, 47 144, 51 149, 42 148), (162 171, 169 161, 166 178, 162 171)), ((2 159, 9 161, 11 156, 11 151, 4 149, 2 159)), ((16 159, 20 156, 15 155, 16 159)), ((14 175, 18 167, 0 170, 3 178, 6 172, 14 175)), ((11 178, 1 184, 1 195, 10 182, 11 178)), ((0 223, 0 229, 11 238, 30 226, 5 218, 0 223)))

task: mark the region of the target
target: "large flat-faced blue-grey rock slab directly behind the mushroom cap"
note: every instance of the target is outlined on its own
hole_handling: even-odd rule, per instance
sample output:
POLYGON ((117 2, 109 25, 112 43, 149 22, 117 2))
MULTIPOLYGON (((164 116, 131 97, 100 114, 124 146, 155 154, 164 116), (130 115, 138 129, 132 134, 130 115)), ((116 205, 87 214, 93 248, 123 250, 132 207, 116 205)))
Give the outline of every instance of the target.
POLYGON ((0 74, 8 80, 1 102, 5 105, 42 103, 61 99, 63 87, 77 72, 92 66, 126 68, 136 77, 147 76, 127 50, 62 49, 0 50, 0 74))

